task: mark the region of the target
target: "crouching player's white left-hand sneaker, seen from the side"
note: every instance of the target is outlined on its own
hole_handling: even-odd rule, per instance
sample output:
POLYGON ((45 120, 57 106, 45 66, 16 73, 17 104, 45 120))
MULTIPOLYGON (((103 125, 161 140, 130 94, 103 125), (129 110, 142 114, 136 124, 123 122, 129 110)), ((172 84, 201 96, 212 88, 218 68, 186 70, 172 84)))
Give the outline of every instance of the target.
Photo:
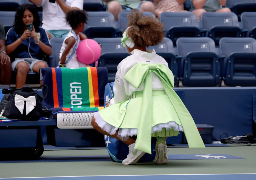
POLYGON ((131 144, 129 146, 129 154, 127 155, 127 158, 124 159, 123 164, 124 165, 129 165, 129 164, 135 164, 136 162, 139 161, 139 159, 146 154, 143 151, 134 149, 135 143, 131 144))

